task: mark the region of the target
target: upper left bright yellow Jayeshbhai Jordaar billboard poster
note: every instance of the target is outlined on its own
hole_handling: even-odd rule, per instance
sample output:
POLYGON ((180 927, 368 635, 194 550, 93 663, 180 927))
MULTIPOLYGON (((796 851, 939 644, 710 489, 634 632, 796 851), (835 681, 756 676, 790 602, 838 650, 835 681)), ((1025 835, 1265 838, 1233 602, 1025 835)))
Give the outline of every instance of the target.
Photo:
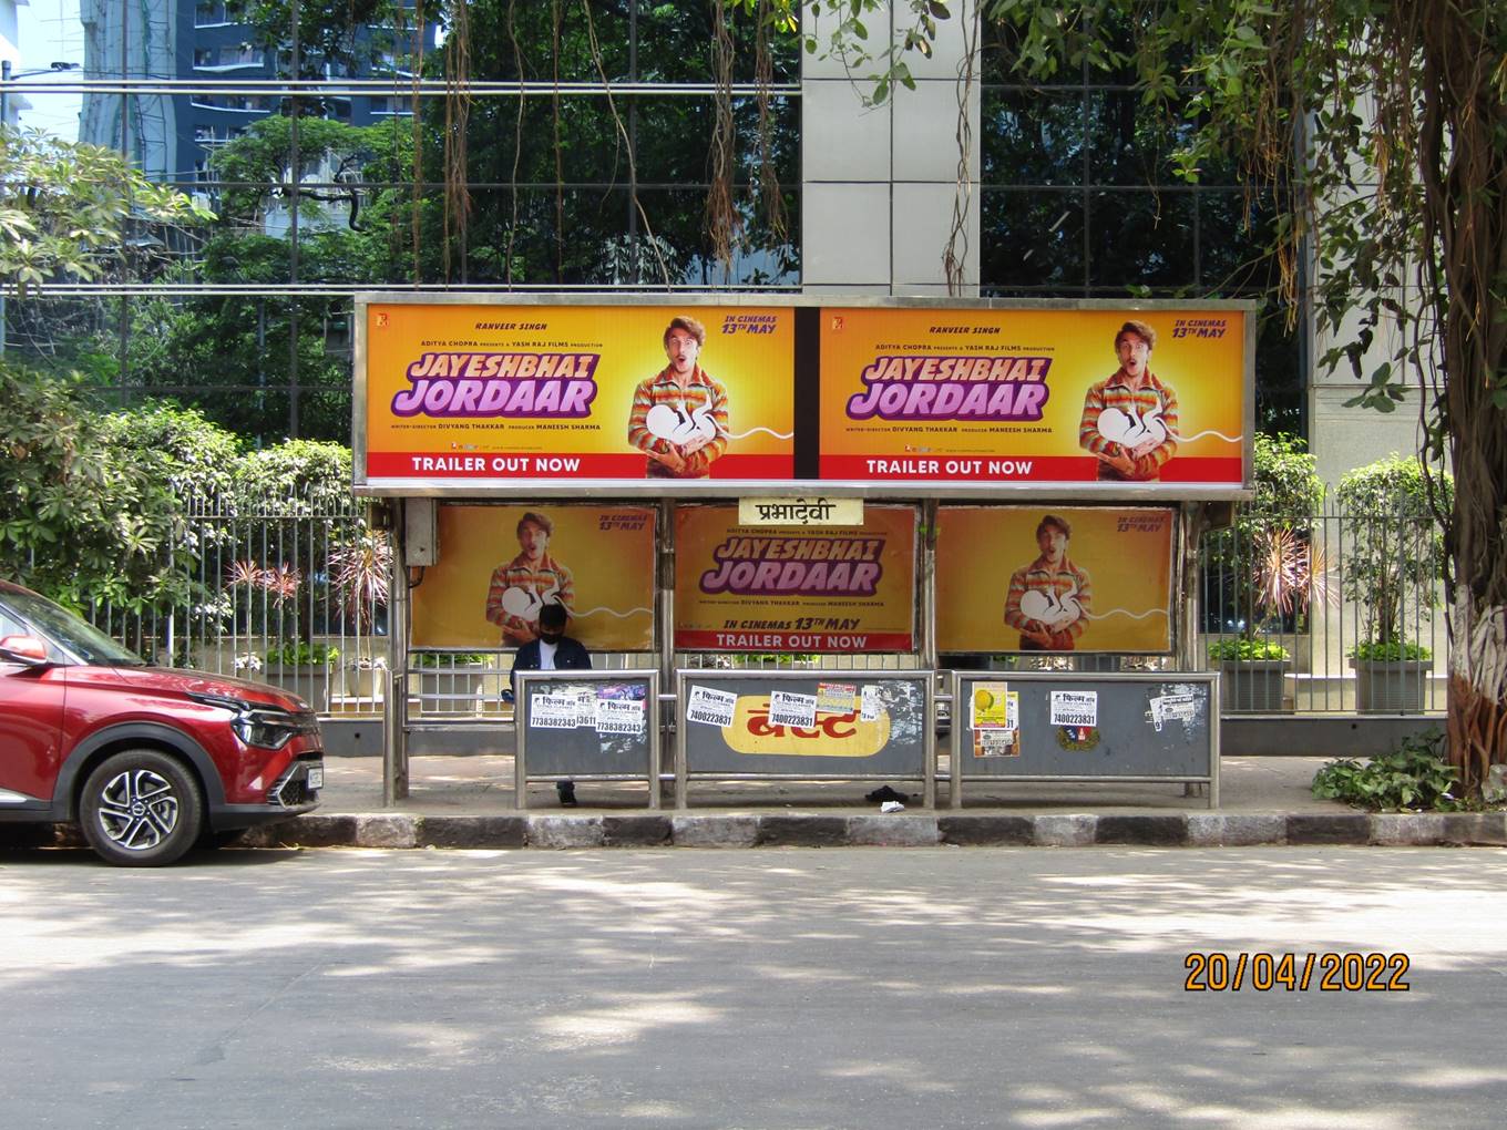
POLYGON ((788 307, 372 303, 365 345, 368 484, 794 473, 788 307))

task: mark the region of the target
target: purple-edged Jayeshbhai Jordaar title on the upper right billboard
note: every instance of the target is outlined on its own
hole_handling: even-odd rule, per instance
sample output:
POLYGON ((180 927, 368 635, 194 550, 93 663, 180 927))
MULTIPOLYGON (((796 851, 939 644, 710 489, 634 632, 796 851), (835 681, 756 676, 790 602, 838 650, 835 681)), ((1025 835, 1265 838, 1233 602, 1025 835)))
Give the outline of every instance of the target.
POLYGON ((882 356, 848 398, 854 420, 1040 420, 1050 357, 882 356))

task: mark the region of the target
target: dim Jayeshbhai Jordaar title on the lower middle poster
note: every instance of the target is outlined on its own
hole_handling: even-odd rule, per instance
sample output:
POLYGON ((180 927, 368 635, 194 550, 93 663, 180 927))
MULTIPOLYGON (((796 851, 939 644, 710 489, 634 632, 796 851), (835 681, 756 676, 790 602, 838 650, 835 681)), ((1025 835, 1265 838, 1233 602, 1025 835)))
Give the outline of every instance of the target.
POLYGON ((701 591, 716 595, 873 597, 885 570, 883 538, 754 538, 734 535, 713 550, 701 591))

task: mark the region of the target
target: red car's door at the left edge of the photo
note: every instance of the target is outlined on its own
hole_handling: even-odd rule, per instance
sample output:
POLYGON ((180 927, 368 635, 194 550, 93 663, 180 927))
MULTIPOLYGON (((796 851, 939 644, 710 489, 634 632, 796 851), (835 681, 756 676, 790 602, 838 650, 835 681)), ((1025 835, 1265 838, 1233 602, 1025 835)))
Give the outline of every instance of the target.
MULTIPOLYGON (((24 634, 33 633, 0 606, 0 639, 24 634)), ((0 820, 8 809, 51 803, 66 690, 66 666, 36 667, 0 655, 0 820)))

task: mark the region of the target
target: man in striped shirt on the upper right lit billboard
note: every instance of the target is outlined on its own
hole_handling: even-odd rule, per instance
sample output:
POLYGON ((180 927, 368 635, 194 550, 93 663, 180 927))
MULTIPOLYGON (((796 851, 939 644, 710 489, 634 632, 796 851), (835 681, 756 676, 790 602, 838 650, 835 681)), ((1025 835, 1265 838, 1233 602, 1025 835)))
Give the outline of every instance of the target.
POLYGON ((1084 398, 1079 444, 1099 457, 1099 479, 1156 482, 1177 452, 1177 393, 1147 368, 1156 330, 1129 321, 1115 334, 1120 368, 1084 398))

